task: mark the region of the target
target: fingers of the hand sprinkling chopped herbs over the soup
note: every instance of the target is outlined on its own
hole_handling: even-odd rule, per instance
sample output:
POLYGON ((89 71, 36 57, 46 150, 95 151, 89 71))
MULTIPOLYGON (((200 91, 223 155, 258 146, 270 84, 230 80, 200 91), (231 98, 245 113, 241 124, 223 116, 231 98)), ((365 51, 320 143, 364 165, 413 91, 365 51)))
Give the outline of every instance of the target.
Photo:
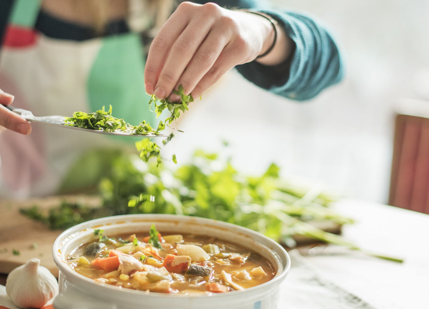
MULTIPOLYGON (((145 68, 146 92, 163 99, 169 97, 179 84, 184 87, 185 94, 194 89, 229 40, 227 31, 221 36, 211 35, 219 9, 212 3, 201 6, 185 2, 178 7, 149 50, 145 68)), ((172 95, 170 99, 174 96, 178 98, 172 95)))

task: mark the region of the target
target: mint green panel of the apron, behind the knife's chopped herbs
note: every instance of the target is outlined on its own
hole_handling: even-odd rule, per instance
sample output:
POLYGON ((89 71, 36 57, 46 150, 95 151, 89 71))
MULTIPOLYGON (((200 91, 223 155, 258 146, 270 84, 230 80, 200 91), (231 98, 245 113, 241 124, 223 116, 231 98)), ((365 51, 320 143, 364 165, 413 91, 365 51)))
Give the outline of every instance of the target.
POLYGON ((91 112, 103 105, 113 107, 113 116, 131 125, 146 120, 157 127, 161 119, 149 110, 150 96, 145 92, 145 59, 136 33, 103 38, 102 46, 88 76, 88 101, 91 112))

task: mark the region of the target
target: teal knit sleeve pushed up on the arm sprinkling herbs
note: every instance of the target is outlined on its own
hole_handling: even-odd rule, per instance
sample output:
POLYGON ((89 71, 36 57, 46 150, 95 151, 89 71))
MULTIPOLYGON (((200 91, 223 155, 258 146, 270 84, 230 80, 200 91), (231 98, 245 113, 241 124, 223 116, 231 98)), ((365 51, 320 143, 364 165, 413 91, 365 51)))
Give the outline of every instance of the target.
POLYGON ((281 65, 267 66, 256 61, 237 65, 240 74, 263 89, 299 101, 314 98, 342 79, 339 49, 323 26, 299 13, 262 12, 284 27, 294 42, 293 54, 281 65))

